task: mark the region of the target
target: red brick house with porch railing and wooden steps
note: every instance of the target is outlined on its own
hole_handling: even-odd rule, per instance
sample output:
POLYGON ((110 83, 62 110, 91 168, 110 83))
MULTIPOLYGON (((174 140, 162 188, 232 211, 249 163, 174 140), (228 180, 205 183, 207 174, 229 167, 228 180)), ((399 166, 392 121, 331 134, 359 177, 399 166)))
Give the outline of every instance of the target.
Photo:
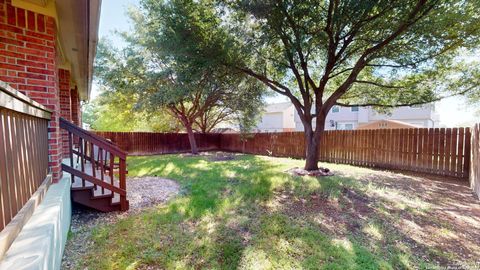
POLYGON ((128 209, 125 153, 79 128, 100 6, 0 0, 0 269, 59 269, 71 201, 128 209))

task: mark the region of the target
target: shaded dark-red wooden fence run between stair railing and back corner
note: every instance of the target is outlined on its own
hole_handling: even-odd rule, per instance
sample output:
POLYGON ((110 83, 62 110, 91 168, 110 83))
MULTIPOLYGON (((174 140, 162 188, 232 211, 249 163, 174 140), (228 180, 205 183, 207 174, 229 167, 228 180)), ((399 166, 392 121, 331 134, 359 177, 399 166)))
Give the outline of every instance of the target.
MULTIPOLYGON (((129 155, 174 154, 190 151, 184 133, 94 132, 111 140, 129 155)), ((199 151, 218 150, 219 134, 195 134, 199 151)))

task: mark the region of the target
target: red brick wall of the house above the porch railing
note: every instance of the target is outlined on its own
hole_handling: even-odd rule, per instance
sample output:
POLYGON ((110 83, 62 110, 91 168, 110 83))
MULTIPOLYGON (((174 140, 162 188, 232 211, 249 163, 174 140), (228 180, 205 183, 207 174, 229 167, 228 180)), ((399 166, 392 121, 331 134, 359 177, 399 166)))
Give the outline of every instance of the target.
POLYGON ((0 80, 53 111, 49 123, 49 166, 61 174, 60 100, 55 20, 0 0, 0 80))

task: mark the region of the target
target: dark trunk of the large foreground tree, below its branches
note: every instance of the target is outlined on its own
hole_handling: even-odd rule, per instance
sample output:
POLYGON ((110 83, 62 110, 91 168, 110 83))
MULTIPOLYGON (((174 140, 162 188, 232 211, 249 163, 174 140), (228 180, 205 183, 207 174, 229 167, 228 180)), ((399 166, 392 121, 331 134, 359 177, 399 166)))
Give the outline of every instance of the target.
POLYGON ((318 170, 318 159, 320 155, 320 141, 322 132, 325 130, 325 119, 317 119, 317 126, 313 130, 311 125, 304 125, 305 128, 305 170, 318 170))

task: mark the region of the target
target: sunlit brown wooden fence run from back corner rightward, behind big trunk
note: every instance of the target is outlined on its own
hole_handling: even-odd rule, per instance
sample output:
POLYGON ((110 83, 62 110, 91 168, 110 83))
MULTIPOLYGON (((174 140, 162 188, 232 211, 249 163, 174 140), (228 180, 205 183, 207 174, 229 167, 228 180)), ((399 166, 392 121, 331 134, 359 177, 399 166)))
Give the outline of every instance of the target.
MULTIPOLYGON (((238 134, 222 134, 220 149, 259 155, 305 157, 302 132, 253 134, 246 141, 242 141, 238 134)), ((320 143, 320 160, 466 178, 470 164, 470 129, 325 131, 320 143)))

